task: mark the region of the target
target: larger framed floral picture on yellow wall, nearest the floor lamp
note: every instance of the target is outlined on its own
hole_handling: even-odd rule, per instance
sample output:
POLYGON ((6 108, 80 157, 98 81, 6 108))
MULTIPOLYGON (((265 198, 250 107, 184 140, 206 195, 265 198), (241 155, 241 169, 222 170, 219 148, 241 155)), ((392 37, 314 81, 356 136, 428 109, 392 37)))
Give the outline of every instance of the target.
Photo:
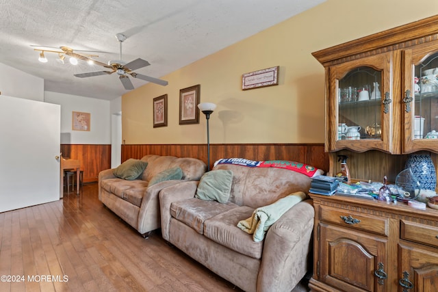
POLYGON ((179 124, 199 124, 199 96, 201 85, 179 90, 179 124))

